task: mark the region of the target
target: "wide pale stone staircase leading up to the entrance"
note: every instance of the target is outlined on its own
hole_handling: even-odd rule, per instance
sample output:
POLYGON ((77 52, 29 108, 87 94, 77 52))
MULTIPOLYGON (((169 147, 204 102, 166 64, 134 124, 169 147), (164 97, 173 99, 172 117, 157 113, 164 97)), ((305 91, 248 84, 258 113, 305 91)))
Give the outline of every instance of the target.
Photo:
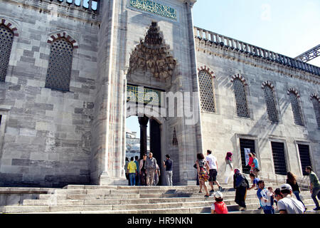
MULTIPOLYGON (((266 183, 266 187, 279 187, 266 183)), ((218 187, 215 185, 215 190, 218 187)), ((63 189, 48 190, 37 199, 24 199, 22 204, 1 207, 1 213, 46 214, 199 214, 210 213, 213 195, 204 197, 199 187, 193 186, 96 186, 68 185, 63 189)), ((235 204, 235 190, 223 185, 224 201, 230 213, 263 213, 256 190, 247 192, 247 210, 242 212, 235 204)), ((310 192, 302 192, 306 213, 313 212, 314 202, 310 192)))

